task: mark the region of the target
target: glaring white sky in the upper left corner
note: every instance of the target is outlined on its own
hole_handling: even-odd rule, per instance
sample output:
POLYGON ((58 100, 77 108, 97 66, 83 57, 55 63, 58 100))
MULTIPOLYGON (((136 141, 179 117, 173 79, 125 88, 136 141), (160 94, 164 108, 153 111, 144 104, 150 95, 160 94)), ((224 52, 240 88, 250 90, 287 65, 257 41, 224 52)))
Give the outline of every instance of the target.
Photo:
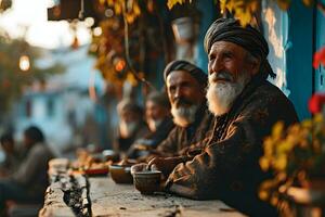
MULTIPOLYGON (((13 0, 12 8, 0 16, 0 26, 11 37, 25 37, 32 44, 42 48, 60 48, 72 44, 75 33, 66 21, 49 22, 47 8, 54 0, 13 0)), ((80 44, 89 43, 90 30, 84 22, 78 23, 77 37, 80 44)))

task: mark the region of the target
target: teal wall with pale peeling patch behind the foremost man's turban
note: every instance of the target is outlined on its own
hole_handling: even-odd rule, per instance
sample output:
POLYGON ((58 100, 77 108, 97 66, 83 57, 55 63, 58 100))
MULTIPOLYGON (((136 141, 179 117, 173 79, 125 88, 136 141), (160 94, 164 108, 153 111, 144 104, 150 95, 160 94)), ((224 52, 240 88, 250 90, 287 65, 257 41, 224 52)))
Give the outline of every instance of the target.
POLYGON ((292 101, 300 119, 310 117, 307 103, 313 89, 313 9, 292 1, 285 12, 275 2, 263 1, 262 18, 269 61, 277 75, 272 82, 292 101))

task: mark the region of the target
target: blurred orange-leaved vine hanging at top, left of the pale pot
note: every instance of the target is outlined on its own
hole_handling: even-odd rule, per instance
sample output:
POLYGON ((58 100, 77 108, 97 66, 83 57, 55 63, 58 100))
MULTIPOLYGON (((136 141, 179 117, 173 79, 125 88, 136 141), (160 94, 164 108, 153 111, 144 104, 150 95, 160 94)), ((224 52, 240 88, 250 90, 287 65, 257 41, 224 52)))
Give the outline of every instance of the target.
POLYGON ((126 80, 153 88, 146 80, 147 67, 164 53, 164 34, 154 0, 100 0, 103 13, 112 15, 100 23, 102 34, 93 36, 90 52, 98 56, 96 68, 112 84, 126 80), (157 25, 157 23, 159 25, 157 25))

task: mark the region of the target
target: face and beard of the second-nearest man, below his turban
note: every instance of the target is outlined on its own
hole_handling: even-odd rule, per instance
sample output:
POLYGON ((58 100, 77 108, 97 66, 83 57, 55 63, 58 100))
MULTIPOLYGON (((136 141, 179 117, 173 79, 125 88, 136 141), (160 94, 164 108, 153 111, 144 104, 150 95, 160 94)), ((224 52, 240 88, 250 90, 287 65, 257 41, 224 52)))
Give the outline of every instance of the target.
POLYGON ((205 100, 205 89, 184 71, 171 72, 166 86, 174 123, 186 127, 195 120, 195 113, 205 100))

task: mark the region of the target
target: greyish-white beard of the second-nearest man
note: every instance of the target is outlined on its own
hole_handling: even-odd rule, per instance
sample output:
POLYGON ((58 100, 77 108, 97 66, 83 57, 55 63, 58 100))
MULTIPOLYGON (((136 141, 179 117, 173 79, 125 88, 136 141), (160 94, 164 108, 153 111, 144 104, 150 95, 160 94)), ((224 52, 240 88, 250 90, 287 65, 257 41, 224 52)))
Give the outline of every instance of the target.
POLYGON ((187 127, 195 120, 195 114, 198 105, 191 105, 188 107, 174 105, 171 106, 171 114, 173 117, 173 123, 180 127, 187 127))

